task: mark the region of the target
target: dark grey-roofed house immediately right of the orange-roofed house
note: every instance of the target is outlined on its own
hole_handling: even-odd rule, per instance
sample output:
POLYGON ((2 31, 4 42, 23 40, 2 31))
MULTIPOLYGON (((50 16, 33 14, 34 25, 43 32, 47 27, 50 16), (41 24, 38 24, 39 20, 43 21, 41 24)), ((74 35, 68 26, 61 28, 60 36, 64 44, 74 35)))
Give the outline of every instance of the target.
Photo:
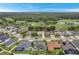
POLYGON ((65 54, 78 54, 79 52, 76 48, 68 41, 62 42, 61 47, 64 50, 65 54))

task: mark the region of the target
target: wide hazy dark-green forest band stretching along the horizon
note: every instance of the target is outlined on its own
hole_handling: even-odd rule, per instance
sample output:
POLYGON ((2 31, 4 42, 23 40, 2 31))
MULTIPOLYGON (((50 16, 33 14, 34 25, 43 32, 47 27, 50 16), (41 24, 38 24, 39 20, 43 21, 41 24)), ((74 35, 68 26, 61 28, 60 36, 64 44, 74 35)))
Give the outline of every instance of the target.
POLYGON ((0 13, 0 18, 11 17, 15 21, 26 20, 28 22, 57 21, 61 19, 79 19, 79 13, 0 13))

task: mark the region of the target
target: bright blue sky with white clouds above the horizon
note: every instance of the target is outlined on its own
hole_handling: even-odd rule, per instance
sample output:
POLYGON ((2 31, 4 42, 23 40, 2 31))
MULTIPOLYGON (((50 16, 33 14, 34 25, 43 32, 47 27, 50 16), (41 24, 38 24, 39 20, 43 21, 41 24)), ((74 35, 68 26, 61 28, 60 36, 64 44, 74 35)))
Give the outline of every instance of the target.
POLYGON ((0 12, 79 12, 79 3, 0 3, 0 12))

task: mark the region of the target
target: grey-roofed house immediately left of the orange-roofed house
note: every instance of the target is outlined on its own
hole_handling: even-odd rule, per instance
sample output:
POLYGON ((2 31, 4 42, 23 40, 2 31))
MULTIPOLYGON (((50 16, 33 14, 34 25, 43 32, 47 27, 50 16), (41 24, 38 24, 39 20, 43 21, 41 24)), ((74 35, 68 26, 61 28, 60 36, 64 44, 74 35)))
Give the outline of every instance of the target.
POLYGON ((45 42, 35 41, 33 44, 34 44, 34 50, 47 50, 45 42))

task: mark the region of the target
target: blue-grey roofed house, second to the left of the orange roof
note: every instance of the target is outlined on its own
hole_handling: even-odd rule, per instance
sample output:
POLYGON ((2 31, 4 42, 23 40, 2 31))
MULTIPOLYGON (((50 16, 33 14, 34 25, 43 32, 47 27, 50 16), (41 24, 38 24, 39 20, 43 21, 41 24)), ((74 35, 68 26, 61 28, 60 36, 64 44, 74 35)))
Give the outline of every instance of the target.
POLYGON ((26 42, 21 42, 18 47, 16 47, 15 51, 24 51, 24 50, 29 50, 31 47, 32 42, 26 41, 26 42))

